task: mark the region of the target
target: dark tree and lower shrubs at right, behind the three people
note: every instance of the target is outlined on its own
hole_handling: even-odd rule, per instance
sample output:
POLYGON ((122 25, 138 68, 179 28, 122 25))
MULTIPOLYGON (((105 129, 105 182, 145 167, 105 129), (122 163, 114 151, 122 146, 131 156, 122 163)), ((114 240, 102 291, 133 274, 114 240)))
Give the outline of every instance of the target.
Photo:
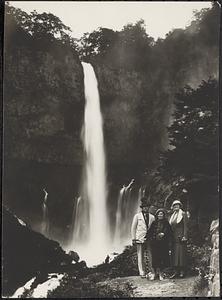
POLYGON ((168 209, 174 199, 182 200, 191 212, 191 238, 198 243, 219 206, 218 82, 209 79, 197 89, 182 89, 173 118, 168 127, 170 149, 161 155, 158 170, 149 175, 147 193, 156 206, 168 209))

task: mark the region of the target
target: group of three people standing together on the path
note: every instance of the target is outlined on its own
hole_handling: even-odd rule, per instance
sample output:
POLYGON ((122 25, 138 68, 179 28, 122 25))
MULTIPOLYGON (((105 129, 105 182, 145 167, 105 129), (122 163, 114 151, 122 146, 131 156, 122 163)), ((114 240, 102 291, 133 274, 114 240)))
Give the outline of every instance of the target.
POLYGON ((182 210, 182 203, 175 200, 172 204, 173 213, 167 220, 164 209, 158 209, 155 217, 149 213, 150 203, 141 199, 141 212, 137 213, 132 222, 131 235, 133 245, 137 246, 139 274, 142 278, 154 277, 163 279, 163 269, 170 265, 174 274, 170 278, 184 277, 186 266, 187 215, 182 210), (170 262, 170 252, 172 259, 170 262), (145 252, 148 256, 148 274, 145 266, 145 252))

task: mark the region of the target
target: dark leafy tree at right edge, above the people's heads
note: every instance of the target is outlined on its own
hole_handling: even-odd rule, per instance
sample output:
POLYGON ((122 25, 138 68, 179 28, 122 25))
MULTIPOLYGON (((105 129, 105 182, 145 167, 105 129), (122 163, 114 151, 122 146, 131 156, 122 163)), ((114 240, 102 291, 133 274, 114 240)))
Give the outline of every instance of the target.
MULTIPOLYGON (((165 178, 183 178, 196 213, 218 209, 218 82, 203 81, 197 89, 187 86, 177 94, 174 122, 168 128, 172 149, 162 157, 165 178)), ((182 187, 182 188, 181 188, 182 187)), ((177 189, 177 190, 178 190, 177 189)), ((181 194, 182 195, 182 194, 181 194)))

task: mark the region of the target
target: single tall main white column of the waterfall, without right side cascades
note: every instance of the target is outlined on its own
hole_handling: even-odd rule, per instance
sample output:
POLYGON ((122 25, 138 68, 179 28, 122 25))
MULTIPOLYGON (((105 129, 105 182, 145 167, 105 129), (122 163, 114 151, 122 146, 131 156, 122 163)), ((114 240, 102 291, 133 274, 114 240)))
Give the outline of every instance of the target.
POLYGON ((76 204, 73 248, 88 265, 102 262, 109 251, 106 162, 103 119, 97 79, 93 67, 82 63, 85 88, 85 117, 82 140, 85 150, 81 198, 76 204))

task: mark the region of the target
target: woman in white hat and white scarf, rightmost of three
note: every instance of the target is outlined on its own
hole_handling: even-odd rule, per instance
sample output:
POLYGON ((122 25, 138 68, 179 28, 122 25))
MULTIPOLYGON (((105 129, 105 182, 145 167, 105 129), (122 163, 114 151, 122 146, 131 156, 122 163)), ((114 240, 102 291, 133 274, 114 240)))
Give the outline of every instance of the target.
POLYGON ((175 273, 170 278, 178 275, 183 278, 187 260, 187 214, 182 210, 182 203, 179 200, 173 202, 171 209, 173 209, 173 214, 169 223, 173 231, 172 263, 175 273))

